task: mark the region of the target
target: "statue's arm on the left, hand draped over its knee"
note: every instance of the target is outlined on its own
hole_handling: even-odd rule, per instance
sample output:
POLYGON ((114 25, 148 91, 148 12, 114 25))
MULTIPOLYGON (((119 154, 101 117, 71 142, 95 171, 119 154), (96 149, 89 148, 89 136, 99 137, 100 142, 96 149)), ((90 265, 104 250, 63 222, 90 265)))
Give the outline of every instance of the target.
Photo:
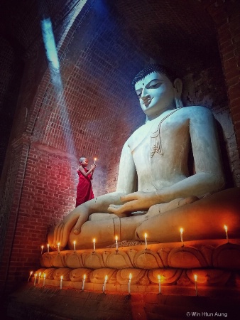
POLYGON ((55 226, 53 246, 56 247, 58 242, 60 242, 60 247, 65 247, 72 228, 75 234, 79 234, 82 225, 88 220, 89 215, 92 213, 109 213, 107 209, 111 203, 116 205, 122 204, 120 200, 121 196, 125 196, 134 191, 136 191, 136 168, 128 142, 126 142, 121 152, 116 191, 87 201, 66 215, 65 218, 55 226))

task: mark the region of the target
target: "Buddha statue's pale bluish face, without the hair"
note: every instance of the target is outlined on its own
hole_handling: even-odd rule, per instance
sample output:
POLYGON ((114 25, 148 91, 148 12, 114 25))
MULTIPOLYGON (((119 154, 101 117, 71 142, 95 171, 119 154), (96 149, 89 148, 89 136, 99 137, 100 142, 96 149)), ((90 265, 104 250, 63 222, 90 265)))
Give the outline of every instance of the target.
POLYGON ((148 119, 158 117, 165 110, 175 106, 175 92, 172 82, 163 73, 153 72, 136 82, 136 94, 148 119))

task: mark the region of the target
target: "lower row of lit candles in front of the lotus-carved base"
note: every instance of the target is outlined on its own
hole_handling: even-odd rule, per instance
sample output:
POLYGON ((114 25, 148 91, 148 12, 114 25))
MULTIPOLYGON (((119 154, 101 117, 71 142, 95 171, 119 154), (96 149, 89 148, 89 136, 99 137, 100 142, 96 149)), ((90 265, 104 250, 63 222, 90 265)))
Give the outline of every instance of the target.
MULTIPOLYGON (((30 272, 30 275, 28 277, 28 282, 29 282, 32 274, 33 274, 33 271, 30 272)), ((39 274, 37 274, 37 273, 34 274, 34 286, 36 286, 37 277, 38 277, 38 284, 40 284, 41 275, 42 275, 41 272, 39 272, 39 274)), ((131 278, 132 278, 132 274, 129 273, 129 283, 128 283, 129 294, 131 294, 131 278)), ((43 273, 43 287, 45 287, 45 279, 46 279, 46 274, 44 272, 43 273)), ((86 279, 86 274, 84 274, 83 279, 82 279, 82 291, 84 291, 85 279, 86 279)), ((108 277, 107 277, 107 274, 106 274, 106 276, 104 278, 104 284, 102 285, 102 292, 103 293, 105 293, 105 291, 106 291, 107 279, 108 279, 108 277)), ((194 275, 194 279, 195 279, 195 293, 196 293, 196 296, 197 296, 197 274, 194 275)), ((60 289, 62 289, 62 280, 63 280, 63 276, 61 275, 61 277, 60 277, 60 289)), ((161 293, 161 276, 160 276, 160 274, 158 274, 158 293, 159 294, 161 293)))

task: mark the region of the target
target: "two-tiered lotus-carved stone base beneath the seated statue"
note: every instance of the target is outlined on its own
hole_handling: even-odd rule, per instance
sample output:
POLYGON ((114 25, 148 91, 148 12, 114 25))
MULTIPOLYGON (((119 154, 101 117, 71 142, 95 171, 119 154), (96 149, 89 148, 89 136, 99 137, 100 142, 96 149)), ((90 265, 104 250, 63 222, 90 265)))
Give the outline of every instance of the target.
MULTIPOLYGON (((201 240, 92 250, 67 250, 44 253, 36 273, 45 273, 45 284, 114 292, 158 292, 160 286, 240 287, 240 240, 201 240)), ((40 280, 43 284, 43 279, 40 280)))

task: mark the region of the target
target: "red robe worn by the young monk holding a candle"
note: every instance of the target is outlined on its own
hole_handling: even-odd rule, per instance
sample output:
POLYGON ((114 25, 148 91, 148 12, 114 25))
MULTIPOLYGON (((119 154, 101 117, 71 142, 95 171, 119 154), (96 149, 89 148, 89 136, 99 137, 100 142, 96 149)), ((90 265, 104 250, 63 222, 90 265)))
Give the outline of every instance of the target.
MULTIPOLYGON (((84 171, 87 172, 87 168, 84 168, 84 171)), ((94 198, 91 183, 92 173, 85 177, 80 170, 77 170, 77 174, 79 176, 79 183, 77 184, 76 207, 94 198)))

